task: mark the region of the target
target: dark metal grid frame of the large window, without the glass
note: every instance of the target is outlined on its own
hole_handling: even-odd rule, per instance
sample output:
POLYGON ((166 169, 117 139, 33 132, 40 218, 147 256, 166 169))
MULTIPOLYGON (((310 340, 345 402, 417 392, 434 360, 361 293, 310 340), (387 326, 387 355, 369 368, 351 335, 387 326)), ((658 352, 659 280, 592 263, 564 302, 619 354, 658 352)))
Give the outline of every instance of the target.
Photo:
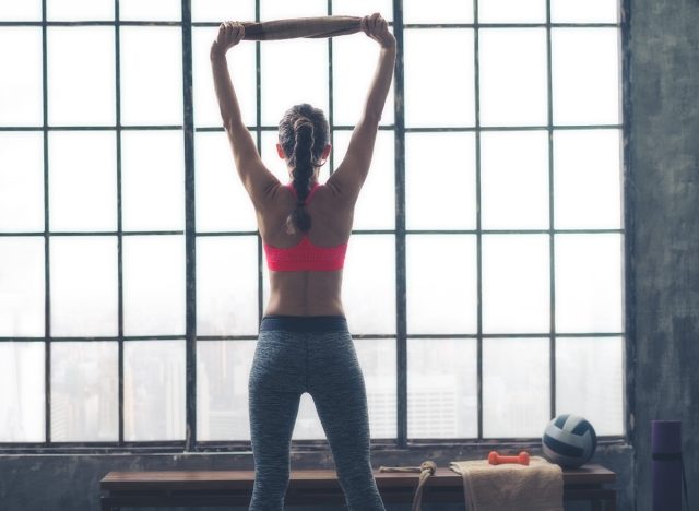
MULTIPOLYGON (((208 236, 256 236, 257 237, 257 259, 258 259, 258 316, 262 317, 264 304, 263 298, 263 254, 262 243, 259 233, 254 231, 216 231, 197 233, 194 217, 194 136, 198 132, 223 131, 221 127, 196 127, 193 119, 193 93, 192 93, 192 27, 217 26, 217 23, 192 22, 191 1, 181 0, 181 21, 178 22, 140 22, 121 21, 119 19, 119 0, 114 0, 114 21, 81 21, 81 22, 49 22, 47 21, 47 0, 42 0, 40 22, 0 22, 2 26, 37 26, 42 28, 42 66, 43 66, 43 126, 40 127, 0 127, 0 131, 37 131, 43 132, 44 145, 44 231, 39 233, 0 233, 0 237, 16 236, 43 236, 45 257, 45 332, 43 337, 0 337, 0 342, 26 341, 43 342, 45 345, 45 442, 0 442, 0 453, 110 453, 110 452, 245 452, 249 451, 249 441, 200 441, 197 437, 197 341, 232 340, 247 341, 257 338, 254 335, 197 335, 197 296, 196 296, 196 245, 197 237, 208 236), (48 83, 47 83, 47 28, 52 26, 114 26, 115 28, 115 71, 116 71, 116 126, 49 126, 48 123, 48 83), (179 26, 182 29, 182 104, 183 118, 181 126, 122 126, 121 124, 121 87, 120 87, 120 27, 121 26, 179 26), (51 131, 114 131, 116 134, 117 147, 117 231, 60 231, 50 233, 49 225, 49 155, 48 155, 48 133, 51 131), (140 130, 181 130, 183 135, 185 150, 185 230, 157 230, 157 231, 123 231, 121 225, 121 132, 140 130), (186 247, 186 332, 183 335, 123 335, 123 292, 122 292, 122 237, 135 235, 185 235, 186 247), (49 242, 52 236, 116 236, 118 250, 118 335, 117 336, 85 336, 85 337, 55 337, 50 331, 50 264, 49 264, 49 242), (51 440, 50 424, 50 365, 51 365, 51 343, 63 341, 116 341, 118 343, 118 408, 119 408, 119 437, 116 442, 54 442, 51 440), (178 441, 125 441, 123 438, 123 343, 137 340, 183 340, 186 342, 186 437, 178 441)), ((260 1, 256 0, 256 20, 260 20, 260 1)), ((380 130, 394 132, 395 152, 395 226, 394 229, 355 229, 355 235, 392 235, 395 239, 395 308, 396 328, 393 334, 364 334, 354 335, 357 340, 363 338, 393 338, 396 346, 396 438, 388 440, 372 440, 371 444, 377 450, 410 449, 411 447, 437 445, 464 447, 481 445, 484 443, 511 443, 531 442, 536 443, 540 439, 486 439, 483 436, 483 340, 497 337, 547 337, 549 340, 549 368, 550 368, 550 413, 555 415, 556 397, 556 340, 565 337, 623 337, 625 345, 625 426, 626 431, 621 436, 603 438, 604 442, 619 443, 633 442, 635 428, 630 420, 630 413, 633 411, 633 393, 631 391, 635 381, 635 371, 629 360, 633 359, 633 308, 632 299, 635 288, 632 283, 633 274, 633 246, 631 236, 628 233, 633 229, 633 216, 631 214, 633 204, 632 195, 629 193, 632 187, 632 177, 629 171, 629 145, 630 130, 629 122, 631 116, 630 103, 630 0, 620 1, 619 23, 552 23, 550 2, 546 0, 546 23, 513 23, 513 24, 481 24, 478 23, 478 1, 473 1, 474 22, 469 24, 404 24, 403 23, 403 0, 393 0, 393 22, 394 35, 398 44, 398 59, 394 74, 394 124, 380 126, 380 130), (526 127, 482 127, 479 118, 479 29, 481 28, 546 28, 547 48, 547 124, 526 127), (621 108, 623 122, 620 124, 599 124, 599 126, 555 126, 553 122, 553 79, 552 79, 552 29, 553 28, 619 28, 620 29, 620 58, 621 58, 621 108), (473 127, 428 127, 407 128, 405 127, 404 111, 404 31, 419 28, 472 28, 474 36, 474 85, 475 85, 475 126, 473 127), (617 129, 621 131, 623 146, 623 170, 624 170, 624 226, 620 229, 555 229, 554 226, 554 158, 553 158, 553 134, 560 130, 599 130, 617 129), (488 131, 528 131, 541 130, 548 133, 548 182, 549 182, 549 228, 548 229, 483 229, 481 222, 481 133, 488 131), (475 134, 476 147, 476 228, 475 229, 407 229, 405 224, 405 134, 412 132, 473 132, 475 134), (410 235, 474 235, 477 247, 477 332, 462 334, 411 334, 406 323, 406 239, 410 235), (483 332, 483 306, 482 306, 482 238, 488 234, 546 234, 549 237, 549 275, 550 275, 550 328, 549 332, 528 333, 528 334, 497 334, 483 332), (591 332, 591 333, 557 333, 555 330, 555 237, 558 234, 620 234, 624 237, 624 294, 623 304, 625 313, 625 332, 591 332), (477 342, 477 401, 478 401, 478 436, 475 439, 410 439, 407 436, 407 342, 410 338, 475 338, 477 342)), ((327 0, 327 12, 332 14, 332 0, 327 0)), ((331 136, 334 131, 350 131, 353 126, 334 126, 333 119, 333 73, 332 73, 332 39, 328 39, 329 49, 329 122, 331 126, 331 136)), ((254 131, 258 147, 261 146, 263 131, 276 131, 276 126, 263 126, 261 115, 261 51, 260 43, 256 43, 256 88, 257 88, 257 122, 249 127, 254 131)), ((331 156, 331 173, 334 168, 334 159, 331 156)), ((328 449, 327 440, 294 440, 294 444, 304 447, 306 450, 324 451, 328 449)))

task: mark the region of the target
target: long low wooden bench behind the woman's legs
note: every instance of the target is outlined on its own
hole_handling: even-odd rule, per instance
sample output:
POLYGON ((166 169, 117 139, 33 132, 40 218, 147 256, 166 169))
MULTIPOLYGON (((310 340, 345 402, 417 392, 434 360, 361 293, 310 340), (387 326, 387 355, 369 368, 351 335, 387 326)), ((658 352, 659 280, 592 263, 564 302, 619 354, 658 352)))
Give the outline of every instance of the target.
MULTIPOLYGON (((374 471, 384 503, 412 502, 417 473, 374 471)), ((248 506, 253 471, 109 472, 99 483, 103 511, 121 507, 248 506)), ((601 465, 564 471, 564 499, 587 500, 594 511, 616 509, 616 474, 601 465)), ((343 504, 335 471, 293 470, 287 504, 343 504)), ((423 502, 464 502, 463 479, 438 467, 423 489, 423 502)))

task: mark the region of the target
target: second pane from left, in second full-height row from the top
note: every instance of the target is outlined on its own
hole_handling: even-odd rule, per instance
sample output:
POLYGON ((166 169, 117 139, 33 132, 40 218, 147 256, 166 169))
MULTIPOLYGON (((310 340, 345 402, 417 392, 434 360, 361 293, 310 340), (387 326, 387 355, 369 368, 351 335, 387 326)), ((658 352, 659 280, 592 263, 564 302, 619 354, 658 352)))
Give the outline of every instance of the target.
POLYGON ((54 131, 48 136, 50 229, 116 230, 115 133, 54 131))

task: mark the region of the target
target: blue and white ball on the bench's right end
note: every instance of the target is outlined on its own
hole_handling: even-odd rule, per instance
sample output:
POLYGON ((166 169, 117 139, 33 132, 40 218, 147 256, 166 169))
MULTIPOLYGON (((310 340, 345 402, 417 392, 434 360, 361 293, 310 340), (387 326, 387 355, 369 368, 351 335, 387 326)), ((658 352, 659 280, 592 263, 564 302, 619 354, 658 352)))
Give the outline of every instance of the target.
POLYGON ((554 417, 542 438, 544 454, 553 463, 576 467, 587 463, 597 448, 592 425, 582 417, 562 414, 554 417))

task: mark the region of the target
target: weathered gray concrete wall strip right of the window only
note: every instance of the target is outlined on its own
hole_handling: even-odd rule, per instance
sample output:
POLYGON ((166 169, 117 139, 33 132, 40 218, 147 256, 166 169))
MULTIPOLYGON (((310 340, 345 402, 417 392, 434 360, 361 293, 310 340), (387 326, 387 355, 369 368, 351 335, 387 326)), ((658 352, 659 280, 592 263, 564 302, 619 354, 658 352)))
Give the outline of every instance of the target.
POLYGON ((699 509, 699 2, 631 8, 637 509, 652 503, 653 419, 683 421, 699 509))

